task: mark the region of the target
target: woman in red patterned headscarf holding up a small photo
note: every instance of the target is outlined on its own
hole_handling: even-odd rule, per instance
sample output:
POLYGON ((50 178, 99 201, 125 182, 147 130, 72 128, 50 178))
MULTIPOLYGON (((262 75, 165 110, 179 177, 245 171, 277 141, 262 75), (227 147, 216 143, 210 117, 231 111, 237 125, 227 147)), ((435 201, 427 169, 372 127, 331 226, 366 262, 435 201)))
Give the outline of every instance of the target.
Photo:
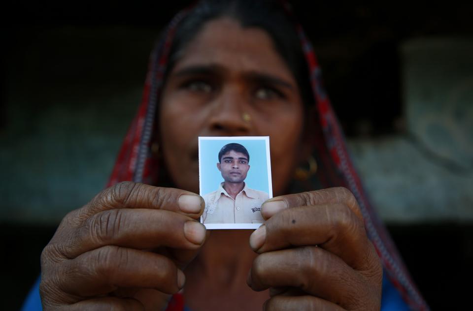
POLYGON ((209 0, 174 18, 109 186, 44 249, 43 310, 428 309, 279 1, 209 0), (198 222, 198 136, 270 136, 274 198, 256 231, 198 222))

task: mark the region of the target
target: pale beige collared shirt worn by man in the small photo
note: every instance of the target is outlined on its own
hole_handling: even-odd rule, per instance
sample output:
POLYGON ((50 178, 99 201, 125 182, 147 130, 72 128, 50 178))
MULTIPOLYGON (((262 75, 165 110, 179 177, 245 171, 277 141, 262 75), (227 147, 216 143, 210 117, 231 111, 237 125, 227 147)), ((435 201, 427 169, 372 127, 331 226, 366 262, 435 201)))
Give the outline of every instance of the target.
POLYGON ((236 195, 235 200, 225 191, 223 184, 216 191, 203 196, 205 209, 203 223, 263 223, 261 204, 269 199, 266 192, 248 187, 236 195))

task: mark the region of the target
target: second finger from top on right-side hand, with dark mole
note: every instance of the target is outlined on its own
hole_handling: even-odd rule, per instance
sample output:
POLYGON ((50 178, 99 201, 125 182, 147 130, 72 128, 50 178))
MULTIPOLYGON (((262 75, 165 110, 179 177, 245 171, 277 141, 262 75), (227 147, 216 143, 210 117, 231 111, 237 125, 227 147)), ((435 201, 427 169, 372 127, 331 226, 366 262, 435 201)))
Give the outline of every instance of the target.
POLYGON ((339 203, 284 210, 250 236, 250 246, 258 253, 308 245, 333 252, 357 270, 379 261, 364 223, 339 203))

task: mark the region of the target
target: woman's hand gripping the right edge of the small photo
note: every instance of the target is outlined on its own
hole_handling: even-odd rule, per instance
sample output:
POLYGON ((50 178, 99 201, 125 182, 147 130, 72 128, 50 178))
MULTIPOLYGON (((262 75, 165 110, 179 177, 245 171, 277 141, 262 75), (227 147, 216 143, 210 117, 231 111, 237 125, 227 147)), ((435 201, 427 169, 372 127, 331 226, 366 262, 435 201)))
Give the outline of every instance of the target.
POLYGON ((248 285, 264 310, 379 310, 382 267, 353 194, 329 188, 272 198, 250 237, 248 285))

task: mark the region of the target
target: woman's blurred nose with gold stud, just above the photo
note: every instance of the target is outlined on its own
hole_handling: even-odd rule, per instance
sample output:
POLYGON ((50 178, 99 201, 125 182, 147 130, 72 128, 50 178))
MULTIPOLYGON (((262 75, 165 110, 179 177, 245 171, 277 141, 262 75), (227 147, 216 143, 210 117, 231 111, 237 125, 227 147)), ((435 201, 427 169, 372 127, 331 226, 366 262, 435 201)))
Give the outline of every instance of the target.
POLYGON ((247 136, 251 121, 245 120, 245 107, 249 108, 247 98, 238 87, 225 87, 212 102, 209 127, 212 132, 228 136, 247 136))

